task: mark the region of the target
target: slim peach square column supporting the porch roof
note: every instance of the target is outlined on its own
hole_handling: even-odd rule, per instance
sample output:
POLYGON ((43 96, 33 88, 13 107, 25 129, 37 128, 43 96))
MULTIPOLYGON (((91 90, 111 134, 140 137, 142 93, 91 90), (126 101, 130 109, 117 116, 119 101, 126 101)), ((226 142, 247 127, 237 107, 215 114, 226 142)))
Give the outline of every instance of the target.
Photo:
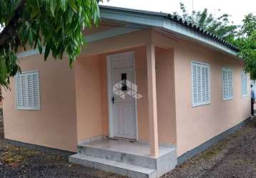
POLYGON ((158 130, 157 130, 157 85, 154 56, 154 43, 147 45, 147 90, 149 100, 149 142, 150 155, 159 156, 158 130))

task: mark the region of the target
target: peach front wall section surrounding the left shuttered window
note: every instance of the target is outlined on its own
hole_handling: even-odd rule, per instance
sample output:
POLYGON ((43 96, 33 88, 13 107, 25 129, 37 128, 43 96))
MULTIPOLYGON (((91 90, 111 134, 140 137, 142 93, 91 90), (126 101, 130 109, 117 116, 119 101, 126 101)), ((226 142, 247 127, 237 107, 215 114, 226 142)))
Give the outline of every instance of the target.
POLYGON ((44 62, 43 56, 19 60, 22 71, 39 70, 41 110, 16 110, 14 78, 11 91, 3 90, 6 139, 76 151, 77 125, 74 70, 64 61, 44 62))

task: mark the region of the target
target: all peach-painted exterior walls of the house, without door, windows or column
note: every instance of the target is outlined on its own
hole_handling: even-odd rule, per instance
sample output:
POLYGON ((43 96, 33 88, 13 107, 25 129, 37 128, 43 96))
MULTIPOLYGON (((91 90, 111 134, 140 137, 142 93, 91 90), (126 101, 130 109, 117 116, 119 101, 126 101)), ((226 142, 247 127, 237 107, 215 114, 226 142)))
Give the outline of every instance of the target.
MULTIPOLYGON (((106 58, 110 54, 134 51, 138 92, 143 95, 137 102, 139 141, 148 142, 145 46, 149 42, 158 46, 155 52, 160 143, 177 145, 180 156, 250 115, 250 96, 241 97, 243 64, 237 58, 169 34, 142 30, 89 43, 73 70, 69 69, 67 60, 44 62, 39 56, 21 59, 24 71, 39 69, 41 110, 16 110, 14 80, 11 80, 12 91, 3 93, 6 138, 75 151, 77 142, 108 135, 106 58), (192 108, 191 61, 210 64, 210 105, 192 108), (233 100, 222 100, 222 66, 233 68, 233 100)), ((249 88, 248 81, 248 92, 249 88)))

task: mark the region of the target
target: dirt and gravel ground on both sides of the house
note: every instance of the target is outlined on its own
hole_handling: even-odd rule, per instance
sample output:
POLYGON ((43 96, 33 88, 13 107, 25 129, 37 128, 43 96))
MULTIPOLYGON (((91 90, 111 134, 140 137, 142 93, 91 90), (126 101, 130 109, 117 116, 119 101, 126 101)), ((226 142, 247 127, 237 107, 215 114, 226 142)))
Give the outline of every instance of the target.
MULTIPOLYGON (((66 157, 1 142, 0 177, 119 176, 70 164, 66 157)), ((163 177, 256 177, 256 119, 163 177)))

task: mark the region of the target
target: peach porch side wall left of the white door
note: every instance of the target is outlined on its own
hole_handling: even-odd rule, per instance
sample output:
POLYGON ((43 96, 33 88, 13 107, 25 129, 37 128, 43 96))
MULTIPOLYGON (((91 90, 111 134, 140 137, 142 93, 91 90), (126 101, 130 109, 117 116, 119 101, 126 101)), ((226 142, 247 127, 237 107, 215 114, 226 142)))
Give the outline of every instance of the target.
POLYGON ((99 56, 81 56, 75 64, 78 142, 103 134, 99 59, 99 56))

